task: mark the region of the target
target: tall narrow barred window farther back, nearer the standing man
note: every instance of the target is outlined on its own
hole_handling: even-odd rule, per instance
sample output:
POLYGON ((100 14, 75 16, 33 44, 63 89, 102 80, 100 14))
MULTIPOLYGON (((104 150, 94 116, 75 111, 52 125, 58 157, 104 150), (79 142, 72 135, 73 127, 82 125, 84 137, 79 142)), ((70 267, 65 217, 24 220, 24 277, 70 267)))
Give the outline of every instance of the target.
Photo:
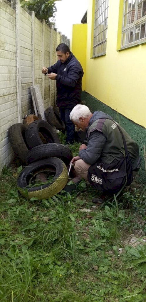
POLYGON ((93 57, 106 53, 108 1, 109 0, 95 0, 93 57))

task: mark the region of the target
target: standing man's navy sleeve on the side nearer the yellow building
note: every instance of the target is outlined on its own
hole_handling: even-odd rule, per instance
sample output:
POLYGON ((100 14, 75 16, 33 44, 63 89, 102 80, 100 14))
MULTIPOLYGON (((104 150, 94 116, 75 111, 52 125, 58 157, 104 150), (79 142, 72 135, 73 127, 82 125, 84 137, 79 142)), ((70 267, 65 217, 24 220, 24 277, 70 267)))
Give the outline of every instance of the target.
POLYGON ((77 80, 83 75, 81 69, 78 66, 70 66, 67 77, 62 75, 57 75, 56 80, 63 85, 75 87, 77 80))

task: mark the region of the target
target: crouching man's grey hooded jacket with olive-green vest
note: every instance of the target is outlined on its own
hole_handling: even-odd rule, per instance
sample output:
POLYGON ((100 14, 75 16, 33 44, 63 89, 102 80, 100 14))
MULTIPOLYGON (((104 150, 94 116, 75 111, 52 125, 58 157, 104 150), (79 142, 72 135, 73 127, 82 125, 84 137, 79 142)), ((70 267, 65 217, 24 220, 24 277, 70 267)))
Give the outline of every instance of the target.
MULTIPOLYGON (((95 163, 99 158, 104 164, 111 163, 114 159, 119 160, 124 156, 123 140, 116 122, 109 120, 108 114, 102 111, 95 111, 89 121, 87 130, 87 149, 79 151, 79 156, 88 164, 95 163), (98 129, 99 119, 106 119, 102 129, 98 129)), ((132 169, 137 168, 139 162, 139 148, 129 134, 119 125, 123 132, 127 149, 130 155, 132 169)))

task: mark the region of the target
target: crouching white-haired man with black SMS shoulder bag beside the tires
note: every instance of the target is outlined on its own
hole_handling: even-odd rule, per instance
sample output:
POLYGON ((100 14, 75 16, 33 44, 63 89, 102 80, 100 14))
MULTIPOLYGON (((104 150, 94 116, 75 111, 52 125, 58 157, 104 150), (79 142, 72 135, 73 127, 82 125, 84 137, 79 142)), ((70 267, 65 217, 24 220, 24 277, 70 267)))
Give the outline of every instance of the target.
MULTIPOLYGON (((130 185, 133 173, 140 168, 139 148, 126 131, 111 116, 85 105, 76 105, 70 120, 87 131, 86 144, 79 147, 79 156, 73 157, 76 173, 90 185, 104 193, 117 193, 124 185, 130 185)), ((95 198, 94 202, 102 202, 95 198)))

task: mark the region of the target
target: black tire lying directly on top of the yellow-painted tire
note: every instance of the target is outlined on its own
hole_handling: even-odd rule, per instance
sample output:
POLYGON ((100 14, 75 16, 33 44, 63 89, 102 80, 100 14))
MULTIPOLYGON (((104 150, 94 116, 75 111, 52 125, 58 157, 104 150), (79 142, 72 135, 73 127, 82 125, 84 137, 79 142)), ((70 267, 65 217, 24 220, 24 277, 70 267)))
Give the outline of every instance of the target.
POLYGON ((54 156, 62 159, 66 165, 69 165, 71 159, 73 158, 69 147, 61 144, 50 143, 32 148, 26 155, 26 162, 29 165, 37 160, 54 156))

